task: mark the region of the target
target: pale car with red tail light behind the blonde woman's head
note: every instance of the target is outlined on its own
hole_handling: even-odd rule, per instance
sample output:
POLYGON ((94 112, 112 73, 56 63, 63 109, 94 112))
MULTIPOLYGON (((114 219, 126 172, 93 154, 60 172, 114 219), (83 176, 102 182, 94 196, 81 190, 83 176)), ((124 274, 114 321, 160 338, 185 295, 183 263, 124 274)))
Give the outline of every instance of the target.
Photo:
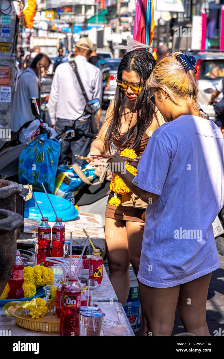
MULTIPOLYGON (((199 104, 202 110, 209 115, 211 120, 215 119, 215 112, 213 105, 209 105, 211 94, 205 93, 207 88, 213 88, 218 84, 219 80, 224 78, 224 53, 222 52, 192 52, 188 55, 192 55, 196 58, 196 70, 195 75, 197 85, 199 87, 199 104)), ((218 100, 223 97, 220 93, 218 100)))

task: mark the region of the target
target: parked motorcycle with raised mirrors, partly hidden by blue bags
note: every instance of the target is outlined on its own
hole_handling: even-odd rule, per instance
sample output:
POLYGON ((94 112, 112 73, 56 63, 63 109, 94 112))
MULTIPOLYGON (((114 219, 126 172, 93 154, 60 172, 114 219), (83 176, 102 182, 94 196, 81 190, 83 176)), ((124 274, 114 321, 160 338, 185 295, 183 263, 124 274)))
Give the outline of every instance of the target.
MULTIPOLYGON (((84 112, 80 117, 94 114, 98 111, 100 106, 101 105, 98 99, 93 99, 89 101, 86 104, 84 112)), ((32 103, 31 108, 35 119, 38 119, 41 125, 43 121, 40 118, 40 111, 37 103, 32 103)), ((79 118, 77 118, 77 120, 79 120, 79 118)), ((61 135, 56 136, 55 141, 59 141, 61 143, 64 140, 77 141, 83 136, 92 139, 95 139, 97 137, 97 135, 95 134, 92 134, 90 132, 84 132, 83 130, 76 128, 75 125, 77 120, 74 121, 74 125, 72 128, 64 130, 62 131, 61 135)), ((29 123, 26 123, 23 128, 27 127, 29 123)), ((6 141, 6 143, 0 149, 0 174, 2 174, 3 176, 7 174, 7 179, 14 182, 18 182, 19 156, 23 149, 25 149, 27 146, 27 143, 20 143, 19 141, 20 130, 21 129, 15 132, 11 136, 11 140, 6 141)), ((47 136, 50 136, 50 132, 46 130, 43 126, 39 127, 39 133, 47 133, 47 136)), ((97 181, 98 178, 95 178, 92 183, 95 183, 97 181)), ((100 183, 95 186, 85 185, 75 196, 74 204, 79 206, 80 212, 100 214, 104 219, 107 198, 109 194, 109 184, 110 182, 104 181, 103 183, 100 183)))

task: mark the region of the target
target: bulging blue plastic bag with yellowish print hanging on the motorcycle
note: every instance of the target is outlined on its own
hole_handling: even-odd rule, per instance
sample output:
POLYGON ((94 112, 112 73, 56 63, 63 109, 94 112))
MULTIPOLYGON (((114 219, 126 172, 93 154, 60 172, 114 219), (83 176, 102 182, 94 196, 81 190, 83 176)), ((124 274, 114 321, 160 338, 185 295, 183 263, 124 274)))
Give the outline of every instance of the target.
POLYGON ((33 185, 34 191, 53 193, 60 143, 42 134, 31 141, 19 156, 19 183, 33 185))

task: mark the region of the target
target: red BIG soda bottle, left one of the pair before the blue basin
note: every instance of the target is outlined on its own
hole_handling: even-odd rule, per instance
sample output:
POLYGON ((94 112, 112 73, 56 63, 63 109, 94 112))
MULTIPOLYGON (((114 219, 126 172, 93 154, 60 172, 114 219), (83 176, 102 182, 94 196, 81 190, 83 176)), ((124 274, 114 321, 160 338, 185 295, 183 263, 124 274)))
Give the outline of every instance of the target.
POLYGON ((48 224, 48 217, 42 217, 41 225, 38 227, 38 253, 37 264, 45 261, 46 257, 51 256, 50 244, 51 244, 51 227, 48 224))

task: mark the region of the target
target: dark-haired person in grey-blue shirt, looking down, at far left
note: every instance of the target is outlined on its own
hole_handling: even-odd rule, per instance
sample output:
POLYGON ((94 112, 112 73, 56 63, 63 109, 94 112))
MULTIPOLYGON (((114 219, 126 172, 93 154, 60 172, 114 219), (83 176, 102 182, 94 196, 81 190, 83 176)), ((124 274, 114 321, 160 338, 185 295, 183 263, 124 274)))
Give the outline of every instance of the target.
POLYGON ((27 67, 19 76, 17 89, 13 95, 11 111, 11 130, 17 131, 25 123, 35 120, 31 111, 31 103, 39 99, 38 93, 38 67, 41 67, 41 76, 45 76, 51 59, 43 53, 39 53, 33 60, 31 67, 27 67))

